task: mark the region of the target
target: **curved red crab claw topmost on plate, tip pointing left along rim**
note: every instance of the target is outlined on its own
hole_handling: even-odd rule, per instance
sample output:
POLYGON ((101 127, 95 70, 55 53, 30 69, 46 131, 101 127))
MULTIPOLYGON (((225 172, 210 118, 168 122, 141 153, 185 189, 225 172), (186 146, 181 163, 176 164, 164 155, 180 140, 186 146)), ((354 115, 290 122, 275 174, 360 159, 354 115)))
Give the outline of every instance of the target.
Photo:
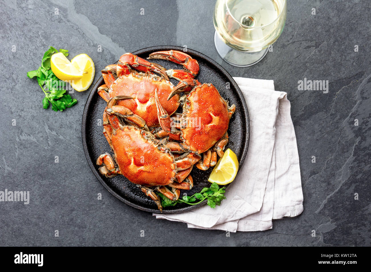
POLYGON ((181 51, 169 50, 169 51, 157 51, 148 57, 148 59, 160 58, 162 60, 170 60, 174 63, 183 65, 184 72, 188 73, 187 78, 194 78, 200 70, 197 60, 192 58, 190 55, 185 54, 181 51))

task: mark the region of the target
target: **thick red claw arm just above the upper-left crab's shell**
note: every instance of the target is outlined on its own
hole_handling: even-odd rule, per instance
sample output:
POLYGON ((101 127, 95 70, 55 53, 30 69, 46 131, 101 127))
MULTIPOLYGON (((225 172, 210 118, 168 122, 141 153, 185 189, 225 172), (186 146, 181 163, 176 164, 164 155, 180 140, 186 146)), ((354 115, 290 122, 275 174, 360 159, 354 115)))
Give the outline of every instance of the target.
POLYGON ((158 73, 166 80, 169 80, 164 67, 157 63, 151 63, 131 53, 122 55, 117 63, 117 75, 129 74, 130 67, 145 73, 158 73))

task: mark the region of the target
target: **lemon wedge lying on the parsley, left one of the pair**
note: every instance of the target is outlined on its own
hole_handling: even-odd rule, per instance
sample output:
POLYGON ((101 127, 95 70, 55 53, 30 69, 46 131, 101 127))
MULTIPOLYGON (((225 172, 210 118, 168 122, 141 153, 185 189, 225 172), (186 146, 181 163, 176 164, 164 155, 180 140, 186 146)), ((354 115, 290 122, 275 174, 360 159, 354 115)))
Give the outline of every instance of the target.
POLYGON ((62 52, 55 53, 50 58, 50 66, 53 73, 64 81, 78 80, 82 77, 82 71, 76 69, 75 66, 63 55, 62 52))

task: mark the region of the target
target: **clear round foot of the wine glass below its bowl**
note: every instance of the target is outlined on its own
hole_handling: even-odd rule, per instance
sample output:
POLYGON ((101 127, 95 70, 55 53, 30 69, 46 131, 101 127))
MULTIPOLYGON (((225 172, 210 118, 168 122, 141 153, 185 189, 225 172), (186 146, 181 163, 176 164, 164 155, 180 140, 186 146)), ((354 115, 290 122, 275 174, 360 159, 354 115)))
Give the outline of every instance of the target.
POLYGON ((233 66, 247 67, 252 66, 262 60, 267 54, 269 47, 259 52, 242 52, 232 47, 227 46, 223 40, 219 38, 218 33, 214 33, 214 43, 216 50, 223 60, 233 66))

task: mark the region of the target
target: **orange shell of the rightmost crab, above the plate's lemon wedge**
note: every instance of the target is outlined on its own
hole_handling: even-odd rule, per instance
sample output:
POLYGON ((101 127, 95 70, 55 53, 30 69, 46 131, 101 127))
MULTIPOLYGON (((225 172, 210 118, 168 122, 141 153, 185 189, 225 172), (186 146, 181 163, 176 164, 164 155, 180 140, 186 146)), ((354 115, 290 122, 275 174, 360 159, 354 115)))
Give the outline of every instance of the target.
POLYGON ((227 132, 228 103, 213 84, 198 85, 187 95, 181 124, 183 142, 201 154, 227 132))

